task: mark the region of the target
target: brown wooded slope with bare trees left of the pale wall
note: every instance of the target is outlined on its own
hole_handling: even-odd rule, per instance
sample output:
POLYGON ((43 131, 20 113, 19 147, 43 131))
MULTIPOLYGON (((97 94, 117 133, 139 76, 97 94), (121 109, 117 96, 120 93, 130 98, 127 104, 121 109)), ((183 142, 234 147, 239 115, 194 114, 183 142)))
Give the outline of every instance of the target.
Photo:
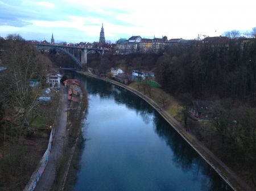
POLYGON ((42 111, 37 99, 52 63, 19 35, 1 39, 0 49, 5 67, 0 71, 0 190, 23 190, 41 158, 42 145, 26 147, 24 141, 35 111, 42 111), (31 79, 40 85, 31 88, 31 79))

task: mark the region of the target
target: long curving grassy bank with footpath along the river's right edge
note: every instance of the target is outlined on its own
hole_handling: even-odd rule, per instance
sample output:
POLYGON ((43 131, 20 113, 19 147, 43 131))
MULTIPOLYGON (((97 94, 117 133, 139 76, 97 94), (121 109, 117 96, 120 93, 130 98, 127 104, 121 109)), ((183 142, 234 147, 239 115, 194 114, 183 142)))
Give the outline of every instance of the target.
MULTIPOLYGON (((82 73, 78 72, 80 74, 88 75, 93 78, 98 78, 92 74, 88 73, 82 73)), ((137 94, 142 99, 146 100, 152 107, 158 111, 158 113, 165 118, 166 121, 169 122, 171 126, 191 145, 198 153, 201 155, 202 158, 205 159, 205 161, 208 162, 215 170, 216 172, 234 189, 234 190, 251 190, 250 188, 246 188, 246 185, 243 184, 242 180, 239 180, 239 177, 236 176, 235 173, 230 171, 230 169, 222 163, 219 159, 216 158, 210 152, 204 145, 202 145, 192 134, 190 134, 188 131, 185 131, 183 126, 178 122, 174 117, 172 117, 170 114, 168 114, 167 111, 164 109, 161 109, 159 104, 157 104, 154 100, 150 99, 149 97, 143 95, 141 92, 138 92, 137 90, 134 90, 131 87, 125 86, 124 84, 115 82, 114 80, 110 80, 108 78, 98 78, 105 80, 107 82, 116 84, 117 86, 123 87, 126 90, 129 90, 131 92, 134 92, 134 94, 137 94)))

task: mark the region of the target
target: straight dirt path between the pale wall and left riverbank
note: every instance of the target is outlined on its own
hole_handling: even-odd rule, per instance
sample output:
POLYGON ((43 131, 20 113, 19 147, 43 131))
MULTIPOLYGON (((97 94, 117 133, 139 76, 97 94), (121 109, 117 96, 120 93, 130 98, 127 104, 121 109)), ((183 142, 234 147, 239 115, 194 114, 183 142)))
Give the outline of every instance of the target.
POLYGON ((57 159, 63 155, 64 151, 64 136, 66 133, 67 125, 67 105, 68 105, 68 94, 64 89, 61 89, 61 112, 57 125, 55 126, 56 131, 53 137, 51 154, 49 156, 49 162, 46 166, 46 169, 43 172, 43 175, 40 177, 40 180, 36 184, 35 191, 49 191, 55 179, 55 169, 57 159))

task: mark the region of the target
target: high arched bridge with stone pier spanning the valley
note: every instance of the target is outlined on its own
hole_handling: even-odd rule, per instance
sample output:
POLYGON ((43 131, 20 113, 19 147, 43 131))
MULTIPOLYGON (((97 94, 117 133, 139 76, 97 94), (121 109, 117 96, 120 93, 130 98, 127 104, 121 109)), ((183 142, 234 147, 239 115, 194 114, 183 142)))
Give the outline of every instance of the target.
POLYGON ((60 45, 51 45, 51 44, 36 44, 38 49, 43 48, 55 48, 57 50, 60 50, 73 59, 79 65, 82 67, 83 64, 87 63, 87 54, 90 52, 97 52, 100 55, 104 55, 105 51, 109 51, 108 49, 96 49, 96 48, 85 48, 85 47, 77 47, 77 46, 60 46, 60 45))

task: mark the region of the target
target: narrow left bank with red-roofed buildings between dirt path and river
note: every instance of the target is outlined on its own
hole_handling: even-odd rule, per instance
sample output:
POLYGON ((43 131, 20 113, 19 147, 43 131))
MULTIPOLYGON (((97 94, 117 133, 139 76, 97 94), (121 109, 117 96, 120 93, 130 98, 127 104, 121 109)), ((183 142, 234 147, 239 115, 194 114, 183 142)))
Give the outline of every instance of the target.
MULTIPOLYGON (((68 80, 66 80, 68 81, 68 80)), ((64 83, 66 82, 64 81, 64 83)), ((66 83, 65 83, 66 84, 66 83)), ((56 176, 51 190, 65 190, 65 184, 69 169, 71 168, 73 155, 76 151, 77 144, 81 139, 81 121, 84 118, 87 107, 88 99, 87 93, 84 87, 80 86, 80 82, 70 79, 66 84, 68 88, 68 96, 66 99, 67 117, 66 121, 65 137, 63 137, 63 156, 59 159, 59 163, 56 165, 56 176), (74 83, 75 82, 75 83, 74 83)))

